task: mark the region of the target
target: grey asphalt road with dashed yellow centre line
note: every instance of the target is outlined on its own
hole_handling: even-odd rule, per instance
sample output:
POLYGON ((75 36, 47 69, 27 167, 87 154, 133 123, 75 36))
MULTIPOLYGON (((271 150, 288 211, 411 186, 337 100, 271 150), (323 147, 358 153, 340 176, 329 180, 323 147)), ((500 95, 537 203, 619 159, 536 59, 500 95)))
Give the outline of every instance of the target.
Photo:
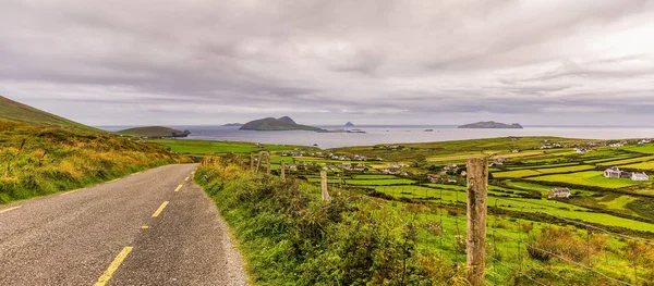
POLYGON ((196 166, 0 206, 0 285, 246 285, 196 166))

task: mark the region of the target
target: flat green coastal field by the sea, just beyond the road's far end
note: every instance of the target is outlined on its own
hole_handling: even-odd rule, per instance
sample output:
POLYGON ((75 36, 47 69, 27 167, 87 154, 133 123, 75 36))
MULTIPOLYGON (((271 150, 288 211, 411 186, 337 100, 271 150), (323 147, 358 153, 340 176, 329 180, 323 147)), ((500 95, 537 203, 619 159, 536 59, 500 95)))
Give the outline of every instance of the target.
POLYGON ((220 154, 220 153, 250 153, 266 151, 316 150, 315 148, 288 145, 266 145, 235 141, 210 141, 210 140, 186 140, 186 139, 155 139, 148 140, 170 148, 177 153, 187 154, 220 154))

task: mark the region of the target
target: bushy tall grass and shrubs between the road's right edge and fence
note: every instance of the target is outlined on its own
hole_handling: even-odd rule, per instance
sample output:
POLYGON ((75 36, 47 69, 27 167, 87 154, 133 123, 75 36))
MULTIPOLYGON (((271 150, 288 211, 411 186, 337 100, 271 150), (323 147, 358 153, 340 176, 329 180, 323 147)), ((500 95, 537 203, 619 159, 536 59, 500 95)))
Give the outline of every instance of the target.
POLYGON ((225 162, 196 182, 234 231, 257 285, 467 285, 452 268, 417 247, 415 222, 374 199, 246 172, 225 162))

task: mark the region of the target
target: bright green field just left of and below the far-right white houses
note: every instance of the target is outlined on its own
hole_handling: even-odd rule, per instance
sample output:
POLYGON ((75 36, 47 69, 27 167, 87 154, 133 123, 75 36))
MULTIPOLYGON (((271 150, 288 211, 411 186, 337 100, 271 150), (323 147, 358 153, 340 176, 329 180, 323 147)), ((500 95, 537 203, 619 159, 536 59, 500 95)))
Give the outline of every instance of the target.
POLYGON ((645 183, 639 183, 629 178, 607 178, 603 176, 604 173, 601 171, 586 171, 570 174, 558 174, 558 175, 545 175, 537 177, 530 177, 529 179, 544 181, 544 182, 558 182, 568 183, 582 186, 593 186, 602 188, 623 188, 630 186, 642 185, 645 183))

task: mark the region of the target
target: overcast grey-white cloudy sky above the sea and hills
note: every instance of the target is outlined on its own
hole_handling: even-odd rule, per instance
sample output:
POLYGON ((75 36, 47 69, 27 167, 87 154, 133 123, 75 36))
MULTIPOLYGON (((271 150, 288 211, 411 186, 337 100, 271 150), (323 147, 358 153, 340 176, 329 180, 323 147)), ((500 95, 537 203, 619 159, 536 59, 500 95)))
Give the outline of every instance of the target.
POLYGON ((654 0, 0 4, 0 95, 92 125, 654 125, 654 0))

